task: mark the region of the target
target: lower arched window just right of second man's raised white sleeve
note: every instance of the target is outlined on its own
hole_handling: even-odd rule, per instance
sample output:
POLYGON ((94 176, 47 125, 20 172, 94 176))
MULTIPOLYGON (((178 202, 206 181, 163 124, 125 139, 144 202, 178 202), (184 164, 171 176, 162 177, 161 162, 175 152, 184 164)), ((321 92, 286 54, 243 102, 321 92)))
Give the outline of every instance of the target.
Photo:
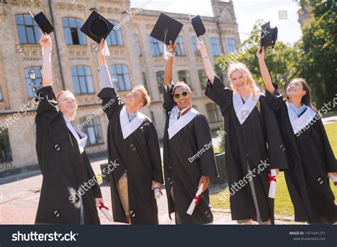
POLYGON ((120 91, 131 90, 129 70, 127 65, 117 64, 111 66, 114 87, 120 91))

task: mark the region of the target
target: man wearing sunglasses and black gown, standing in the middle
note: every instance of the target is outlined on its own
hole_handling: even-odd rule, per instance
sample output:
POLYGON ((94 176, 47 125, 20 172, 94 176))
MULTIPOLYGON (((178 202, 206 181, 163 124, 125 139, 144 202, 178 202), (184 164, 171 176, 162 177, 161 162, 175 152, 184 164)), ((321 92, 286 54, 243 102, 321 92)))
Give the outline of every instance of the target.
MULTIPOLYGON (((176 51, 176 43, 169 46, 176 51)), ((176 224, 212 224, 208 185, 218 177, 210 127, 206 117, 193 109, 193 92, 186 83, 172 83, 173 57, 166 63, 164 75, 164 174, 169 216, 175 212, 176 224), (203 193, 192 215, 186 214, 196 191, 203 193)))

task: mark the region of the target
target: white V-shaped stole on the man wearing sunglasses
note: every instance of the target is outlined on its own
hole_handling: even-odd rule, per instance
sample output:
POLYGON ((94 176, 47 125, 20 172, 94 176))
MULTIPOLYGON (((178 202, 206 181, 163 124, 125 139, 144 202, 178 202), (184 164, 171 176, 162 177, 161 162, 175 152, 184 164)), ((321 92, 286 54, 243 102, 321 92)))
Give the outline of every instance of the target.
POLYGON ((178 120, 178 107, 175 106, 171 110, 170 119, 169 119, 169 139, 171 139, 176 133, 178 133, 183 127, 185 127, 189 122, 193 120, 196 115, 198 115, 198 111, 195 109, 191 109, 186 114, 182 115, 178 120))

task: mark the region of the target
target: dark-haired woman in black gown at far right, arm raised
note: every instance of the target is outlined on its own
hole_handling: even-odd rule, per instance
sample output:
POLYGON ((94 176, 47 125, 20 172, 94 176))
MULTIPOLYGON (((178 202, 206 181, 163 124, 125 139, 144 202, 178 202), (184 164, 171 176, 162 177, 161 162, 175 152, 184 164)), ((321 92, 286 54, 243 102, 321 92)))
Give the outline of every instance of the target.
POLYGON ((295 221, 336 224, 337 206, 328 177, 336 176, 337 164, 321 116, 311 107, 309 86, 302 78, 291 80, 284 100, 270 78, 264 48, 259 48, 257 57, 267 100, 277 116, 284 140, 289 164, 284 174, 294 204, 295 221))

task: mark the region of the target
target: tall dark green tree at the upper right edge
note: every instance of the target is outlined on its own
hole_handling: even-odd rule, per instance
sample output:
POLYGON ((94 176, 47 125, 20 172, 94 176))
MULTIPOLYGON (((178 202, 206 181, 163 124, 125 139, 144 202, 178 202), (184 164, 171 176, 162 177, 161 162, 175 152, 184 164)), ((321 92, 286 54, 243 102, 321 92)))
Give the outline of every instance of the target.
POLYGON ((301 1, 301 8, 311 9, 311 20, 302 28, 299 42, 301 58, 296 73, 306 78, 313 100, 321 107, 336 98, 337 25, 336 1, 301 1))

